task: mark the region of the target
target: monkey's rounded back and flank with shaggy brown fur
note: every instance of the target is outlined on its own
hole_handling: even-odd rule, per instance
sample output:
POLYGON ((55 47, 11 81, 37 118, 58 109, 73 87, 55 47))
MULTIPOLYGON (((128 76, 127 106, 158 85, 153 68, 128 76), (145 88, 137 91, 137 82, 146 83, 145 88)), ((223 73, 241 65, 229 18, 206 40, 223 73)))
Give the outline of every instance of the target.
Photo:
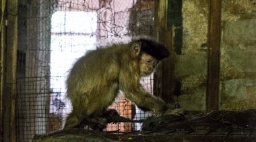
MULTIPOLYGON (((102 97, 104 94, 97 91, 109 88, 110 85, 118 82, 124 52, 128 54, 129 48, 120 45, 97 48, 90 50, 73 64, 66 80, 67 98, 73 105, 84 103, 81 102, 82 100, 89 101, 102 97), (98 97, 94 97, 95 95, 98 97)), ((113 100, 113 98, 110 99, 113 100)))

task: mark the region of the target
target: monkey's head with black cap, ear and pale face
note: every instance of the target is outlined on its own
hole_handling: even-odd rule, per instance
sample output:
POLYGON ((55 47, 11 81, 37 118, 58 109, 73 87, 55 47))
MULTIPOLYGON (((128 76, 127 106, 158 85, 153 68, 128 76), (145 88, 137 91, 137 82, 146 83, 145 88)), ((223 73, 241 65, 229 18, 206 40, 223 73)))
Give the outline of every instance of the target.
POLYGON ((141 76, 152 74, 159 62, 170 56, 170 51, 164 45, 145 38, 133 41, 131 52, 139 58, 141 76))

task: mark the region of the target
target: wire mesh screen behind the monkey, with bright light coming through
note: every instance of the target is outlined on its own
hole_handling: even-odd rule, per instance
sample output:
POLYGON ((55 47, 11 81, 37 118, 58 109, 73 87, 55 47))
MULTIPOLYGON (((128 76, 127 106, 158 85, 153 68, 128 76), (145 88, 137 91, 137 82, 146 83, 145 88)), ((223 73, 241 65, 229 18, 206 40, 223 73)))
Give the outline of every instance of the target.
MULTIPOLYGON (((20 3, 18 18, 18 141, 31 141, 61 129, 71 111, 64 82, 77 58, 96 43, 153 36, 154 1, 36 0, 20 3)), ((152 94, 153 79, 141 78, 152 94)), ((110 108, 133 120, 151 115, 122 93, 110 108)), ((137 131, 141 124, 110 124, 106 131, 117 129, 137 131)))

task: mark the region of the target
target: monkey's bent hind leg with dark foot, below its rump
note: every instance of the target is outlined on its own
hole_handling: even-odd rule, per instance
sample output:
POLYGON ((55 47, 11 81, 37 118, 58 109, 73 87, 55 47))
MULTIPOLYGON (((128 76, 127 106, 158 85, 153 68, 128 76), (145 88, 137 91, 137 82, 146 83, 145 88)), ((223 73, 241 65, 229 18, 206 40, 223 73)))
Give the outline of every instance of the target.
POLYGON ((64 129, 75 127, 76 125, 88 125, 94 130, 102 131, 107 125, 106 117, 103 117, 106 108, 113 103, 119 91, 117 83, 108 84, 100 89, 91 90, 86 100, 76 99, 73 104, 72 113, 67 117, 64 129), (80 124, 84 123, 84 124, 80 124))

